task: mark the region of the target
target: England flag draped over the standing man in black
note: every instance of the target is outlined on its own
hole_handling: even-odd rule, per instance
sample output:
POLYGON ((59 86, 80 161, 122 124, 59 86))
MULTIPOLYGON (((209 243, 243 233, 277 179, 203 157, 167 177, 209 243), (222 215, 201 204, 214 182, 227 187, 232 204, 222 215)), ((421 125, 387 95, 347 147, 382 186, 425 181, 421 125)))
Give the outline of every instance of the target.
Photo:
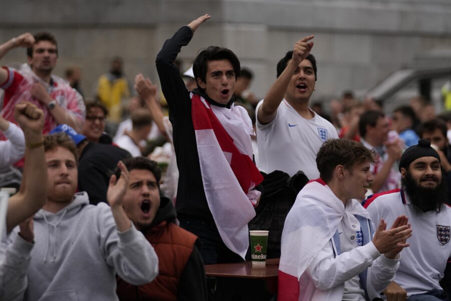
POLYGON ((190 93, 200 173, 208 207, 224 244, 243 259, 255 209, 248 194, 263 181, 252 161, 254 132, 245 108, 210 105, 190 93))

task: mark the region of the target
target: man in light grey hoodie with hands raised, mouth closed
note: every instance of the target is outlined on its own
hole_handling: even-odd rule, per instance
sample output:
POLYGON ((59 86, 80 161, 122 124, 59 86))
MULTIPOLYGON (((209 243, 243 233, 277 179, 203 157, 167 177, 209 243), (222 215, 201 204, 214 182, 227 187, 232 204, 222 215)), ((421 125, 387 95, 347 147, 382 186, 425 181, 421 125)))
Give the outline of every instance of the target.
POLYGON ((71 138, 48 135, 44 147, 47 200, 8 238, 7 252, 31 254, 31 260, 5 271, 5 299, 118 300, 116 273, 134 285, 152 281, 158 274, 157 255, 122 204, 129 182, 124 164, 118 164, 120 179, 110 179, 110 206, 94 206, 86 192, 76 193, 77 151, 71 138))

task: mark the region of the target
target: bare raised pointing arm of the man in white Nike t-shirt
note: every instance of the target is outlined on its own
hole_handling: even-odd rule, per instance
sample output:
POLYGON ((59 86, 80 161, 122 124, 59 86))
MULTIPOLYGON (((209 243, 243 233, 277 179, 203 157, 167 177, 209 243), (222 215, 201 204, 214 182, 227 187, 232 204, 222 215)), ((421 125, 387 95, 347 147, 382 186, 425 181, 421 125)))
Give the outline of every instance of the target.
POLYGON ((267 124, 276 118, 277 108, 284 98, 288 84, 298 68, 299 64, 310 54, 313 48, 312 40, 314 36, 305 37, 294 45, 293 56, 288 62, 287 67, 282 74, 276 79, 271 88, 265 95, 265 100, 259 107, 257 118, 260 123, 267 124))

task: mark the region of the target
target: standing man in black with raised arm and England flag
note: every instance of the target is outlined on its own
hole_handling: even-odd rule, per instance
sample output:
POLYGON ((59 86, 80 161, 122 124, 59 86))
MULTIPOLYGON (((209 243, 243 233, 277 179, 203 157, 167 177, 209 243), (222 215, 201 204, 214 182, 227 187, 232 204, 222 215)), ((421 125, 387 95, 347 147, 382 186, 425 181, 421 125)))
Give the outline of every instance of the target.
POLYGON ((253 163, 251 118, 234 105, 240 61, 227 48, 210 46, 194 60, 197 89, 186 89, 174 60, 210 16, 180 28, 156 58, 179 170, 175 209, 180 226, 202 242, 205 264, 243 260, 248 222, 255 216, 263 177, 253 163))

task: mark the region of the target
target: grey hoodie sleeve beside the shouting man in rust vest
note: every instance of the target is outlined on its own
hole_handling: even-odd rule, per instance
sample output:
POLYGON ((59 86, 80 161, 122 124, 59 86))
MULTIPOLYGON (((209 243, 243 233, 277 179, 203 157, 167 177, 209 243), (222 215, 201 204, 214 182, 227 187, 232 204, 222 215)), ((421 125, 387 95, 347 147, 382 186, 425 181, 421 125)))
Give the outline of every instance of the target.
POLYGON ((133 285, 152 281, 158 275, 158 257, 150 242, 132 225, 119 232, 108 205, 102 203, 99 218, 101 250, 108 265, 113 266, 118 275, 133 285))

